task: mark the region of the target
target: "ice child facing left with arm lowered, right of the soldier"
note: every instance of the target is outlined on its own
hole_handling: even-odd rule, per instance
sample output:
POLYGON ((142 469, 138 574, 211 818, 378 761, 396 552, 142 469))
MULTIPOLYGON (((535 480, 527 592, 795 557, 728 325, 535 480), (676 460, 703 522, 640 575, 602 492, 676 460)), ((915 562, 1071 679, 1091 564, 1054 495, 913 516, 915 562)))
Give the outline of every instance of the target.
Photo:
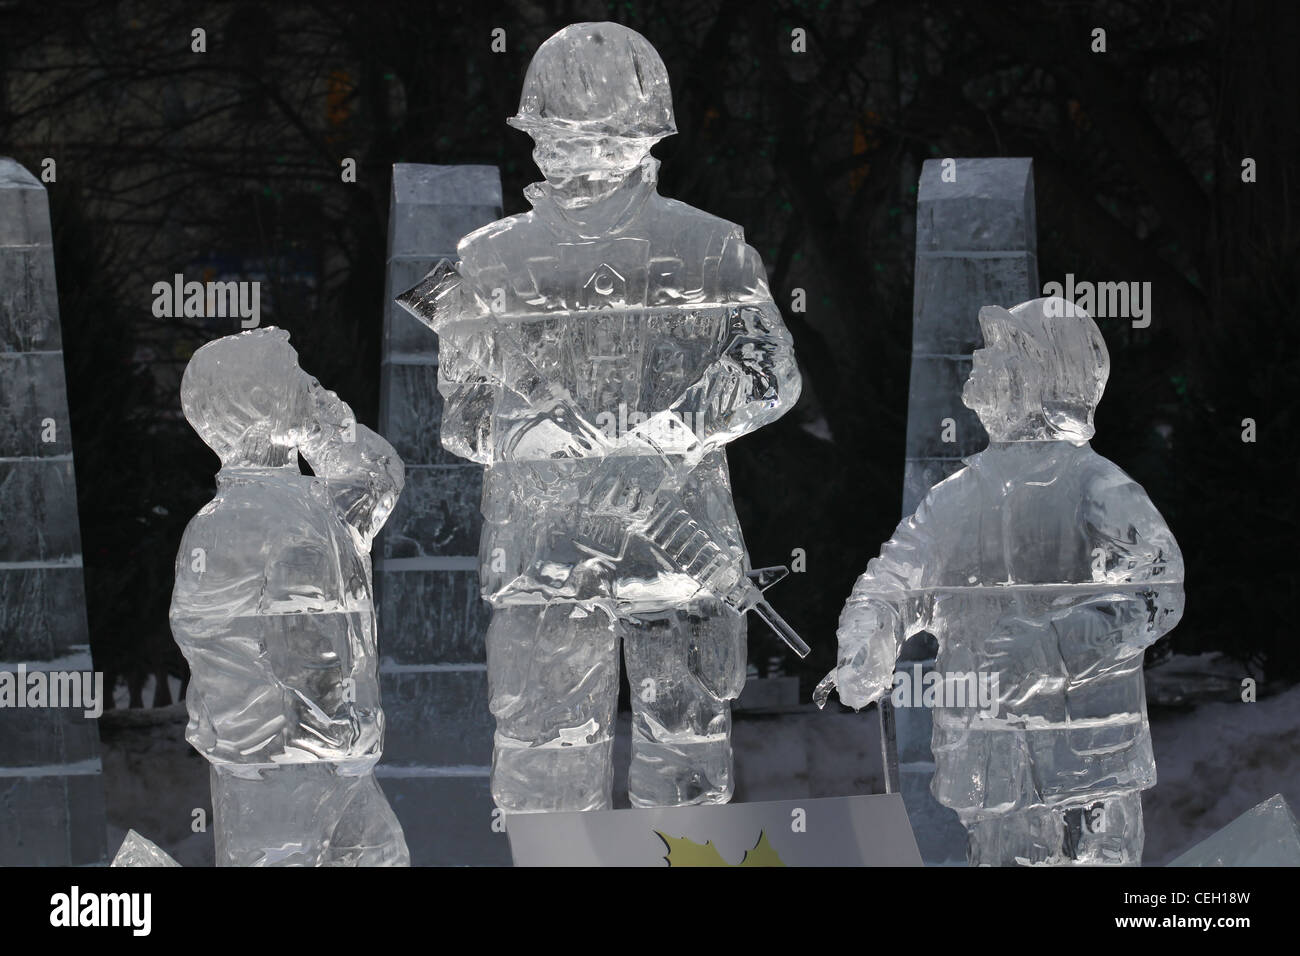
MULTIPOLYGON (((1110 362, 1065 299, 980 310, 962 401, 989 446, 935 485, 858 579, 818 688, 866 706, 907 637, 939 640, 931 790, 972 865, 1139 864, 1156 783, 1143 650, 1183 611, 1145 492, 1089 446, 1110 362)), ((900 674, 892 700, 915 689, 900 674)))

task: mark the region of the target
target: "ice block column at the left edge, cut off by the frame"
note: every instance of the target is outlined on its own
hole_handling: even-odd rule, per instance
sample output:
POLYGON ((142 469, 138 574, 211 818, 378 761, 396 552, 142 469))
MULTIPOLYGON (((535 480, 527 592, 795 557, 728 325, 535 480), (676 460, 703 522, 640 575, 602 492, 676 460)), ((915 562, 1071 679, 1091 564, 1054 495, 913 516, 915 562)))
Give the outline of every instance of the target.
POLYGON ((81 675, 87 689, 92 670, 49 204, 31 173, 0 157, 0 671, 10 675, 0 687, 0 865, 107 857, 90 708, 32 696, 51 671, 81 675))

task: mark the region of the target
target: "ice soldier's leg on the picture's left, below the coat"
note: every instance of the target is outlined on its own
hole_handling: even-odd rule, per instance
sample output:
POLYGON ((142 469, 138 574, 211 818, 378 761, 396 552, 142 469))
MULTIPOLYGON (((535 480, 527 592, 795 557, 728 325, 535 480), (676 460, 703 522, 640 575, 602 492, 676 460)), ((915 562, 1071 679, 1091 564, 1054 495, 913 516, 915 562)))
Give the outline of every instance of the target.
POLYGON ((508 813, 608 809, 618 631, 601 604, 493 609, 488 689, 491 793, 508 813))

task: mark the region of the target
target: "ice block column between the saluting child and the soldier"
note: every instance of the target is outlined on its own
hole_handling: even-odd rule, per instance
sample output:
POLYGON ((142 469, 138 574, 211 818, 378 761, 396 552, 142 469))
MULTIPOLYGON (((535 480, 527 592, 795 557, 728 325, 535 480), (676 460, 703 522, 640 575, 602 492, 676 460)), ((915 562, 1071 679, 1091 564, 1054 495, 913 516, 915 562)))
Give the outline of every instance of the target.
POLYGON ((500 217, 495 166, 393 166, 380 432, 406 462, 406 492, 385 525, 374 584, 387 717, 377 774, 416 866, 510 864, 493 829, 478 596, 482 467, 439 441, 437 337, 393 298, 456 259, 460 237, 500 217))

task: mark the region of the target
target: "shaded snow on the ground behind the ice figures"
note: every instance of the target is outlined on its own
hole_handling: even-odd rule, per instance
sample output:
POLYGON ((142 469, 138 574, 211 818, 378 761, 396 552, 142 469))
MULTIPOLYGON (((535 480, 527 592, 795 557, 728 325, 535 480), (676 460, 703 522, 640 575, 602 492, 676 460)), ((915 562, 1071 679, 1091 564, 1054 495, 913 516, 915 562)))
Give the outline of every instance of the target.
MULTIPOLYGON (((1300 687, 1254 704, 1231 685, 1212 696, 1221 702, 1152 706, 1158 782, 1143 795, 1147 865, 1169 862, 1274 793, 1300 810, 1300 687)), ((185 743, 185 718, 183 704, 104 714, 110 855, 134 827, 183 865, 212 864, 211 826, 191 830, 192 812, 211 804, 208 767, 185 743)), ((627 806, 627 714, 618 732, 615 805, 627 806)), ((884 791, 875 708, 737 714, 733 739, 737 800, 884 791)))

